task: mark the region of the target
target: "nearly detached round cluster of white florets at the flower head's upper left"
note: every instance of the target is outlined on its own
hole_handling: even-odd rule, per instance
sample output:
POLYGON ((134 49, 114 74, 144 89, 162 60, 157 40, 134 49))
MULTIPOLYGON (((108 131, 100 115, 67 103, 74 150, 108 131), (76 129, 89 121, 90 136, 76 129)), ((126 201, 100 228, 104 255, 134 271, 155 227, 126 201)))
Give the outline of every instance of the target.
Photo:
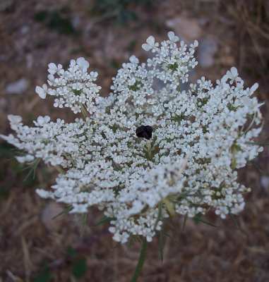
POLYGON ((71 60, 69 68, 64 71, 63 66, 49 63, 49 75, 47 84, 37 86, 35 91, 40 98, 45 99, 47 94, 55 96, 54 106, 68 107, 77 114, 81 107, 86 106, 89 112, 95 111, 95 99, 101 87, 93 83, 97 79, 97 73, 88 73, 88 61, 84 58, 71 60))

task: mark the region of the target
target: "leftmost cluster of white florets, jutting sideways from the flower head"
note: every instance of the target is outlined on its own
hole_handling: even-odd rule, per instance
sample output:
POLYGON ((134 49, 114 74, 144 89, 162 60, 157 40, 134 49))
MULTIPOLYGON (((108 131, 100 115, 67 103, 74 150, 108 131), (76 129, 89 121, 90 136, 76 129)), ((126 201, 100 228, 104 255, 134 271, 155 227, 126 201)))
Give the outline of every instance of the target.
POLYGON ((39 116, 34 121, 35 127, 23 125, 20 116, 8 115, 8 120, 11 128, 16 130, 17 137, 1 137, 26 153, 23 157, 17 157, 18 161, 23 163, 42 159, 45 164, 52 166, 73 166, 76 154, 80 153, 80 142, 85 139, 83 120, 76 119, 75 123, 65 123, 64 120, 57 119, 52 122, 49 116, 39 116))

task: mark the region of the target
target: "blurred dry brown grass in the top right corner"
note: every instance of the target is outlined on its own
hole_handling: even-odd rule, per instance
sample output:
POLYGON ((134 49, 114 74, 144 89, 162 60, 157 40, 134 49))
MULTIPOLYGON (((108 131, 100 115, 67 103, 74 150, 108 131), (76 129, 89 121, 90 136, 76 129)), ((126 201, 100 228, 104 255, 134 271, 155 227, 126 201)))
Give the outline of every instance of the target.
POLYGON ((249 73, 251 80, 268 82, 269 1, 229 0, 220 5, 235 28, 240 71, 249 73))

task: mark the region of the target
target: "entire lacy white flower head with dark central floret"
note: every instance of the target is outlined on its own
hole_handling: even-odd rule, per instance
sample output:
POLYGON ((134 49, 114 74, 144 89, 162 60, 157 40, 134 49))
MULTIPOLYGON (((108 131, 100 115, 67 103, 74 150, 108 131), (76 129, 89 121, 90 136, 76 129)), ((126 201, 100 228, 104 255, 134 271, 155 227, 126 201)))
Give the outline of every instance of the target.
POLYGON ((54 106, 90 116, 73 123, 39 117, 32 128, 8 116, 16 137, 1 135, 25 153, 18 161, 42 159, 63 171, 52 190, 37 190, 41 197, 71 212, 97 205, 121 243, 131 235, 152 240, 176 214, 238 214, 249 189, 237 182, 237 168, 263 149, 253 145, 262 120, 252 97, 258 85, 244 87, 231 68, 216 85, 201 78, 181 90, 197 65, 198 42, 188 47, 174 32, 168 37, 160 44, 148 37, 143 49, 153 57, 140 64, 131 56, 108 97, 97 97, 97 74, 87 73, 85 59, 72 60, 67 71, 49 64, 54 89, 37 87, 40 97, 54 95, 54 106), (163 87, 156 90, 156 82, 163 87))

